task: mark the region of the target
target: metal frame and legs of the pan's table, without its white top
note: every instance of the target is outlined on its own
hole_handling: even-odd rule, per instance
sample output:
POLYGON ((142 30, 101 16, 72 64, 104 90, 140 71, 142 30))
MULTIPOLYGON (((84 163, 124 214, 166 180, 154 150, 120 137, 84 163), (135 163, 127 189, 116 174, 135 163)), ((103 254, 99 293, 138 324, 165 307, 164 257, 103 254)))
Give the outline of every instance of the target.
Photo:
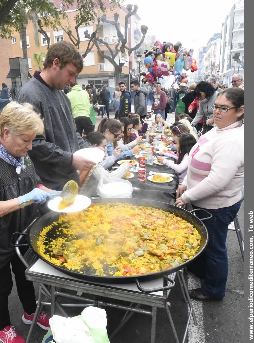
MULTIPOLYGON (((65 275, 65 276, 66 276, 66 279, 65 278, 63 279, 62 277, 55 276, 55 275, 48 275, 48 274, 30 271, 30 268, 26 270, 27 280, 33 281, 33 282, 40 282, 37 308, 36 308, 33 322, 28 332, 26 343, 30 342, 34 326, 36 324, 37 318, 43 306, 51 307, 51 316, 55 314, 55 308, 57 306, 57 308, 61 311, 62 315, 65 317, 68 317, 68 315, 63 310, 63 307, 102 306, 102 307, 112 307, 112 308, 125 310, 125 314, 119 326, 111 333, 110 339, 112 339, 112 337, 121 330, 124 324, 128 322, 128 320, 132 317, 134 313, 141 313, 141 314, 149 315, 152 317, 151 337, 150 337, 151 343, 155 343, 157 308, 165 308, 168 319, 169 319, 170 327, 174 336, 174 340, 176 343, 180 343, 178 334, 176 332, 176 328, 174 326, 174 322, 171 316, 171 312, 170 312, 171 303, 167 301, 169 293, 170 293, 170 289, 168 290, 164 289, 162 295, 152 294, 152 293, 147 294, 143 292, 132 291, 125 288, 123 289, 115 288, 114 285, 109 286, 109 285, 102 285, 102 284, 97 284, 97 283, 92 284, 83 280, 68 279, 68 275, 65 275), (61 289, 64 289, 64 292, 62 292, 61 289, 58 290, 58 287, 61 287, 61 289), (73 295, 66 292, 66 290, 67 291, 72 290, 75 292, 81 292, 85 294, 86 293, 92 294, 94 296, 97 296, 97 298, 95 297, 89 298, 87 297, 87 294, 86 296, 73 295), (78 303, 76 304, 68 303, 68 302, 64 303, 63 301, 60 303, 57 301, 58 296, 78 300, 78 303), (110 302, 104 301, 103 299, 101 299, 101 296, 111 298, 111 299, 128 301, 130 302, 130 304, 129 305, 116 304, 111 301, 110 302), (152 309, 151 310, 143 309, 141 307, 142 305, 151 306, 152 309)), ((184 336, 182 340, 182 343, 184 343, 187 336, 191 317, 193 318, 195 325, 197 325, 197 320, 194 313, 194 309, 192 307, 192 302, 188 293, 188 289, 184 280, 183 270, 179 270, 178 272, 173 273, 172 275, 170 275, 170 278, 174 280, 176 276, 180 285, 183 300, 186 303, 188 302, 188 305, 190 307, 190 312, 189 312, 189 316, 186 322, 184 336)), ((168 281, 164 280, 165 287, 167 286, 167 283, 168 281)))

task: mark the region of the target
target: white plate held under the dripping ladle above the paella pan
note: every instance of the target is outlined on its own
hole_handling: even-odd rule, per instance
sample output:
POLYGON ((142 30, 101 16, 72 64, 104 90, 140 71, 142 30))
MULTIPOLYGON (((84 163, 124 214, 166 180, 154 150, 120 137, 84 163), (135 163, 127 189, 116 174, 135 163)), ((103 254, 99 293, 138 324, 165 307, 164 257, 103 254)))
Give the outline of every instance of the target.
POLYGON ((64 209, 59 210, 58 205, 59 202, 62 200, 61 197, 56 197, 53 200, 48 202, 48 208, 55 212, 63 212, 63 213, 70 213, 70 212, 78 212, 86 209, 91 204, 91 199, 85 197, 84 195, 78 194, 73 202, 73 204, 66 206, 64 209))

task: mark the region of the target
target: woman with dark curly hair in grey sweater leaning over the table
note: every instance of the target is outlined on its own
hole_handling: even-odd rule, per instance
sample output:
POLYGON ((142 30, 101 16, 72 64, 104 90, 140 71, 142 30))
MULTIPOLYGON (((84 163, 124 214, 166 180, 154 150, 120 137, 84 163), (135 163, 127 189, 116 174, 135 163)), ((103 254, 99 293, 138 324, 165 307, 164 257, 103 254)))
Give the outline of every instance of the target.
POLYGON ((204 118, 207 125, 206 132, 208 132, 215 126, 211 105, 215 103, 218 92, 215 91, 210 83, 200 81, 195 88, 195 93, 199 98, 199 109, 191 125, 195 126, 199 120, 204 118))

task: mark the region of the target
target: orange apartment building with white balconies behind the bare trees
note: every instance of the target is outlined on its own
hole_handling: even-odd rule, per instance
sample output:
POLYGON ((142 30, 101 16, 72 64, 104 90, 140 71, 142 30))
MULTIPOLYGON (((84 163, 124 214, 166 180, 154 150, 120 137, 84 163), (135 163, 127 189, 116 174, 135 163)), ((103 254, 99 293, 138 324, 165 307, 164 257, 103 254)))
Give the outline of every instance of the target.
MULTIPOLYGON (((56 6, 59 5, 59 2, 55 2, 56 6)), ((111 8, 111 4, 109 1, 105 2, 106 9, 108 10, 107 12, 107 19, 109 20, 114 20, 114 13, 119 14, 119 29, 122 33, 124 33, 124 24, 125 24, 125 15, 128 13, 125 7, 121 6, 116 7, 114 12, 110 12, 109 9, 111 8)), ((103 13, 100 11, 97 11, 97 16, 101 16, 103 13)), ((76 16, 76 8, 75 5, 73 5, 72 8, 67 12, 68 14, 68 21, 69 24, 71 25, 72 32, 75 34, 75 16, 76 16)), ((130 18, 129 18, 130 19, 130 18)), ((132 19, 134 20, 134 19, 132 19)), ((139 23, 140 17, 138 15, 135 15, 135 20, 134 23, 132 24, 133 26, 136 25, 136 29, 138 29, 138 23, 139 23)), ((131 46, 131 44, 134 44, 132 42, 132 26, 131 25, 131 20, 128 25, 128 42, 126 46, 131 46)), ((62 21, 62 26, 67 27, 68 22, 67 20, 62 21)), ((96 23, 91 23, 89 26, 80 26, 78 28, 78 33, 80 36, 80 52, 83 54, 86 51, 87 45, 88 45, 88 39, 85 38, 84 36, 84 31, 87 29, 88 33, 92 33, 95 31, 97 28, 97 21, 96 23)), ((46 28, 45 28, 46 29, 46 28)), ((70 42, 70 39, 68 35, 64 32, 64 30, 59 27, 58 30, 53 30, 51 28, 46 29, 48 36, 50 37, 50 44, 60 42, 62 40, 66 40, 70 42)), ((135 31, 135 30, 133 30, 135 31)), ((33 58, 34 54, 38 54, 39 52, 45 52, 47 53, 47 42, 46 39, 44 38, 43 35, 40 35, 40 47, 37 48, 35 45, 35 40, 34 40, 34 27, 32 22, 28 23, 27 26, 27 36, 26 36, 26 43, 27 43, 27 55, 28 55, 28 65, 29 65, 29 72, 31 75, 34 74, 35 70, 38 70, 38 66, 36 65, 36 62, 33 58)), ((104 42, 108 43, 110 45, 110 48, 114 50, 115 45, 118 41, 117 37, 117 31, 116 28, 108 23, 102 23, 100 22, 100 28, 99 28, 99 33, 98 37, 102 38, 104 42)), ((135 37, 134 37, 135 38, 135 37)), ((101 50, 101 55, 97 51, 97 48, 93 46, 92 50, 88 53, 88 55, 84 58, 84 68, 81 72, 81 74, 78 76, 78 83, 79 84, 87 84, 87 83, 93 83, 97 88, 101 88, 104 84, 109 85, 110 87, 115 86, 114 82, 114 67, 113 65, 105 58, 106 56, 110 56, 108 48, 100 43, 100 50, 101 50)), ((12 57, 23 57, 23 52, 22 52, 22 44, 20 40, 20 35, 18 32, 13 34, 12 38, 12 57)), ((45 57, 43 57, 43 60, 45 60, 45 57)), ((118 63, 119 61, 119 56, 115 58, 115 61, 118 63)), ((132 69, 132 58, 130 58, 130 65, 131 68, 129 68, 129 63, 125 63, 123 68, 122 68, 122 73, 123 74, 128 74, 130 69, 132 69)))

